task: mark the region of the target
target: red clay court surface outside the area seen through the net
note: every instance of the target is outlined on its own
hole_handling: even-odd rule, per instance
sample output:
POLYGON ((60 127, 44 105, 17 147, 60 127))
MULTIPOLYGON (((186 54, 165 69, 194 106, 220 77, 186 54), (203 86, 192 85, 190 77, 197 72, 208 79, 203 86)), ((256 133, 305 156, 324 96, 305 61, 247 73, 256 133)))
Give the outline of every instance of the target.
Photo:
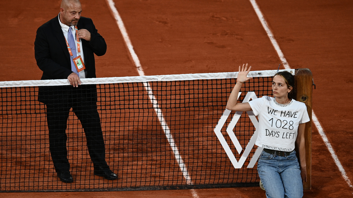
MULTIPOLYGON (((34 58, 39 26, 59 13, 58 1, 1 1, 0 81, 39 80, 34 58), (19 66, 14 68, 14 66, 19 66)), ((353 182, 353 3, 256 1, 292 69, 309 68, 316 89, 312 107, 348 180, 353 182)), ((102 77, 138 76, 136 63, 105 0, 82 0, 82 16, 94 21, 108 45, 96 58, 102 77)), ((281 59, 248 0, 114 0, 145 75, 277 69, 281 59)), ((281 68, 282 63, 281 63, 281 68)), ((336 160, 337 161, 337 160, 336 160)), ((312 124, 312 188, 304 197, 353 197, 312 124)), ((181 173, 180 173, 181 174, 181 173)), ((1 197, 265 197, 259 187, 196 190, 1 193, 1 197), (196 194, 196 195, 195 195, 196 194)))

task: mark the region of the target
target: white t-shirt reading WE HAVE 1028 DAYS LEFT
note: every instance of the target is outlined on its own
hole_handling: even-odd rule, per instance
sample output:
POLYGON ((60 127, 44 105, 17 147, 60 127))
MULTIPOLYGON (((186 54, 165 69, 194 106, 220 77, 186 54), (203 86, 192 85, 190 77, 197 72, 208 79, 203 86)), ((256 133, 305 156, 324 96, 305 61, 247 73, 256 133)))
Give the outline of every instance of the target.
POLYGON ((310 121, 305 104, 292 99, 289 104, 282 105, 269 96, 251 100, 249 104, 259 119, 255 144, 267 149, 292 151, 299 124, 310 121))

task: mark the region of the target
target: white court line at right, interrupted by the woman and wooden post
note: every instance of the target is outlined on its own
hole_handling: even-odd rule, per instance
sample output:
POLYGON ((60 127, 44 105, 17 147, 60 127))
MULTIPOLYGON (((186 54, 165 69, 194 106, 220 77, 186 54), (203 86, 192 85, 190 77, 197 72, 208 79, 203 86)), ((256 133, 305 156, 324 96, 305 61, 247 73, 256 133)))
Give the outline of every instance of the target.
MULTIPOLYGON (((277 51, 277 54, 280 57, 283 65, 285 66, 286 69, 291 69, 291 67, 289 67, 289 64, 288 64, 285 56, 283 55, 282 50, 280 49, 275 37, 273 36, 273 33, 271 32, 270 28, 268 27, 267 22, 266 22, 266 20, 265 20, 265 18, 263 16, 259 6, 257 5, 256 1, 255 0, 250 0, 250 2, 251 2, 252 7, 254 8, 254 10, 255 10, 255 12, 257 14, 257 17, 261 21, 262 26, 264 27, 264 29, 265 29, 265 31, 267 33, 267 36, 270 38, 273 47, 277 51)), ((325 134, 320 122, 318 121, 317 117, 315 116, 314 110, 312 110, 312 120, 313 120, 317 130, 319 131, 319 134, 321 135, 323 141, 325 142, 326 147, 329 149, 329 151, 331 153, 331 156, 332 156, 333 160, 335 161, 336 166, 338 167, 339 171, 341 172, 341 175, 342 175, 343 179, 347 182, 349 187, 353 187, 352 184, 351 184, 351 181, 347 177, 345 169, 341 165, 340 160, 338 159, 335 151, 333 150, 333 147, 331 146, 329 140, 327 139, 327 136, 326 136, 326 134, 325 134)))

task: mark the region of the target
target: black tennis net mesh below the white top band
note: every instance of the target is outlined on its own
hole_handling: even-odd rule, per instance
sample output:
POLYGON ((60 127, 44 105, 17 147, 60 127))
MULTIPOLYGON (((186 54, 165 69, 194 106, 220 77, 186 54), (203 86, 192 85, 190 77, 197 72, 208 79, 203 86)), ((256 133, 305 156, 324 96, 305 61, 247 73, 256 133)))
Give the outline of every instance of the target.
MULTIPOLYGON (((272 77, 251 79, 241 88, 239 100, 248 91, 254 91, 257 97, 271 95, 271 81, 272 77)), ((149 190, 191 188, 192 184, 201 188, 255 184, 259 181, 256 165, 246 168, 247 160, 243 168, 234 169, 213 131, 234 85, 235 79, 214 79, 98 84, 93 89, 82 86, 77 92, 71 86, 0 88, 0 191, 149 190), (38 101, 43 88, 54 95, 40 96, 49 105, 38 101), (85 89, 92 93, 87 94, 85 89), (90 115, 87 104, 97 104, 105 160, 118 175, 117 180, 94 175, 86 140, 89 130, 83 130, 82 120, 76 115, 86 119, 90 115), (64 130, 72 183, 61 182, 56 176, 49 151, 48 106, 70 110, 64 130)), ((233 113, 221 131, 239 160, 240 155, 225 131, 233 113)), ((55 116, 54 119, 56 123, 55 116)), ((85 126, 90 127, 91 122, 85 126)), ((244 149, 254 130, 243 113, 234 131, 244 149)), ((255 149, 256 146, 248 159, 255 149)))

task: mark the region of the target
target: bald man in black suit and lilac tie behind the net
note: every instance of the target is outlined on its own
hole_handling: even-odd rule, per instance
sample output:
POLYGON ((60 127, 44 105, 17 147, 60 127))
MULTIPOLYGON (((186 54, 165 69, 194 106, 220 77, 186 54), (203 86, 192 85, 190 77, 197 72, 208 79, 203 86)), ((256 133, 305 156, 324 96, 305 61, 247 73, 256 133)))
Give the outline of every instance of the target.
POLYGON ((96 85, 81 85, 80 81, 80 78, 96 78, 94 54, 104 55, 107 45, 92 20, 80 17, 81 12, 79 0, 62 0, 59 16, 38 28, 34 43, 37 65, 43 71, 41 80, 68 79, 71 84, 41 86, 38 90, 38 100, 46 105, 50 155, 59 179, 66 183, 73 181, 66 148, 66 123, 71 108, 85 131, 94 174, 117 179, 105 161, 96 85), (76 56, 82 57, 85 65, 82 71, 73 63, 76 56))

